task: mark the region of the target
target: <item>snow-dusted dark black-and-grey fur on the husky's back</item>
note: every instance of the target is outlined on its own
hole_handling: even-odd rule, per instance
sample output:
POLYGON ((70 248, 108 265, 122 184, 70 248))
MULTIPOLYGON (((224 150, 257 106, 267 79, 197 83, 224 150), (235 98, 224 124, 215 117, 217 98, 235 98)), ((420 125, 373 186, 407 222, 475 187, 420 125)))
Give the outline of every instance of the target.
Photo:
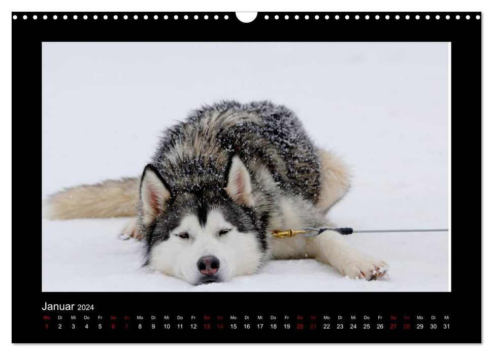
POLYGON ((224 101, 193 111, 165 131, 152 163, 174 189, 186 191, 190 186, 224 186, 234 155, 252 175, 265 166, 282 191, 316 203, 317 150, 299 119, 268 101, 224 101))

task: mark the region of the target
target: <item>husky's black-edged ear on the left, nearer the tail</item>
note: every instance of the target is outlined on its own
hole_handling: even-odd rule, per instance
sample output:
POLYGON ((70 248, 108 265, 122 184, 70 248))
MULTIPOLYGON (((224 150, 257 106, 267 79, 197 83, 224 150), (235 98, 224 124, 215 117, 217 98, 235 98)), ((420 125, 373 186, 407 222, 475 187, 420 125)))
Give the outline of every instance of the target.
POLYGON ((142 221, 145 225, 151 223, 154 218, 165 211, 166 204, 171 198, 171 189, 157 168, 148 164, 140 183, 140 204, 142 208, 142 221))

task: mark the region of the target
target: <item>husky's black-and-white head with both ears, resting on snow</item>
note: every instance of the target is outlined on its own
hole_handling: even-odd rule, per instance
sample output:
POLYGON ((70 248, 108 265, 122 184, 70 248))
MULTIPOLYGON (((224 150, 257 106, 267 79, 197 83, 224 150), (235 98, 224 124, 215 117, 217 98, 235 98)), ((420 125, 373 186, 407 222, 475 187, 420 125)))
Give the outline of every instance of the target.
POLYGON ((255 272, 265 257, 265 221, 255 211, 250 174, 238 157, 222 187, 180 193, 148 165, 140 186, 146 263, 194 285, 255 272))

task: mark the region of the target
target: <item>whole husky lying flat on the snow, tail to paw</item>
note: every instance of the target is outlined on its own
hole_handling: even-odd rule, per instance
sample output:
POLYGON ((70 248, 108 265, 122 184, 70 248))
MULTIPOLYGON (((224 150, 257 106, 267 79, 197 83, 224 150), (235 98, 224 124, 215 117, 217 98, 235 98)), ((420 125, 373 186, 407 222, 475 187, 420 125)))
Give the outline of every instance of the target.
POLYGON ((315 258, 343 275, 382 277, 388 265, 326 230, 279 239, 274 230, 334 227, 324 216, 349 172, 318 149, 293 112, 224 101, 164 132, 141 179, 52 195, 50 219, 132 216, 122 234, 145 243, 145 264, 192 284, 257 272, 269 259, 315 258))

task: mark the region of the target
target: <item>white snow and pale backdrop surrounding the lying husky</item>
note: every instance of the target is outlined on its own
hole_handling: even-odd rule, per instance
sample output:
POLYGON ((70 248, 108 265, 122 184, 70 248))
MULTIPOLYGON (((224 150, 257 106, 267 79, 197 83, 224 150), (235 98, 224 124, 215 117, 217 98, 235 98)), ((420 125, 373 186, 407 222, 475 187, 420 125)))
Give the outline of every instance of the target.
MULTIPOLYGON (((43 43, 43 198, 137 176, 159 132, 219 99, 270 99, 343 156, 352 188, 329 212, 354 229, 448 228, 446 43, 43 43)), ((448 291, 449 233, 356 234, 390 264, 351 280, 314 260, 190 286, 141 267, 128 219, 42 222, 43 291, 448 291)))

